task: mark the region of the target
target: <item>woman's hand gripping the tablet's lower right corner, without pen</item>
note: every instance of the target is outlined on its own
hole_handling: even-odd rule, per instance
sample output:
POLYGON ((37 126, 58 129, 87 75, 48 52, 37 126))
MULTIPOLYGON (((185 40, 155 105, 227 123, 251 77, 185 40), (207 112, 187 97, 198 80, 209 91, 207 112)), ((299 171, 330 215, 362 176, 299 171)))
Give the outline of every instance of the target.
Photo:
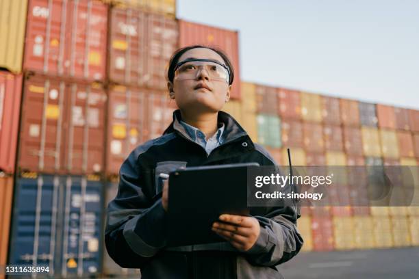
POLYGON ((255 217, 220 215, 220 221, 212 224, 212 230, 240 251, 247 251, 255 244, 260 234, 259 222, 255 217))

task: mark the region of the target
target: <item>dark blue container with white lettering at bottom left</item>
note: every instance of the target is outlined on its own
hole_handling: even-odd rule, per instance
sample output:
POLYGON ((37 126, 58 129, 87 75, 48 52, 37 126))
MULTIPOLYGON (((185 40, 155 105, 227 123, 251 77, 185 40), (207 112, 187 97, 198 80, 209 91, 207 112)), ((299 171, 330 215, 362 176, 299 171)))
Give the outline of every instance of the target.
POLYGON ((16 183, 9 261, 46 265, 48 276, 101 273, 103 185, 86 176, 34 176, 16 183))

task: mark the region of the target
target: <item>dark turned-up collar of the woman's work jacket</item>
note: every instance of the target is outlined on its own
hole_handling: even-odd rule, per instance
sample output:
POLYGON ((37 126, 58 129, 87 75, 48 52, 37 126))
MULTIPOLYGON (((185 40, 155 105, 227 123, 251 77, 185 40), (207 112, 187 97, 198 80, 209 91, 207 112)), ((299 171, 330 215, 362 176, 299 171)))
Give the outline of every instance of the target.
MULTIPOLYGON (((177 131, 183 137, 190 139, 193 142, 193 139, 190 137, 188 131, 186 131, 185 127, 179 122, 181 120, 180 109, 173 111, 173 122, 169 125, 169 127, 164 131, 163 134, 171 133, 173 131, 177 131)), ((225 125, 223 131, 223 144, 227 144, 227 142, 233 142, 233 140, 238 139, 239 137, 249 137, 244 131, 244 129, 238 124, 238 122, 233 118, 233 116, 227 114, 224 111, 218 111, 218 122, 223 122, 225 125)), ((249 142, 251 139, 249 137, 249 142)), ((252 142, 253 144, 253 142, 252 142)))

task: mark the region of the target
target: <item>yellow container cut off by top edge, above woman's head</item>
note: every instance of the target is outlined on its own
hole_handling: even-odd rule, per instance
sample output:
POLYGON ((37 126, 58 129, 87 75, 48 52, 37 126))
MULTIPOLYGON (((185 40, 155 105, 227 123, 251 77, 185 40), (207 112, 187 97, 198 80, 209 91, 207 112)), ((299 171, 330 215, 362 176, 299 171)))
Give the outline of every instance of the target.
POLYGON ((176 15, 176 0, 102 0, 104 3, 110 3, 116 7, 121 8, 136 8, 153 12, 157 14, 164 14, 170 18, 175 18, 176 15))

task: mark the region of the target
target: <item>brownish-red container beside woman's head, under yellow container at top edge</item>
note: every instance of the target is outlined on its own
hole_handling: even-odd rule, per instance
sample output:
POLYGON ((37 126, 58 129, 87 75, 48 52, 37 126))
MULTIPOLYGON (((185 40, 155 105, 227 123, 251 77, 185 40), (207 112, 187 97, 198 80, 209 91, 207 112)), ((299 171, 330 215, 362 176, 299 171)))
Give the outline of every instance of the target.
POLYGON ((133 9, 112 8, 110 14, 110 81, 166 89, 166 67, 178 47, 177 22, 133 9))

